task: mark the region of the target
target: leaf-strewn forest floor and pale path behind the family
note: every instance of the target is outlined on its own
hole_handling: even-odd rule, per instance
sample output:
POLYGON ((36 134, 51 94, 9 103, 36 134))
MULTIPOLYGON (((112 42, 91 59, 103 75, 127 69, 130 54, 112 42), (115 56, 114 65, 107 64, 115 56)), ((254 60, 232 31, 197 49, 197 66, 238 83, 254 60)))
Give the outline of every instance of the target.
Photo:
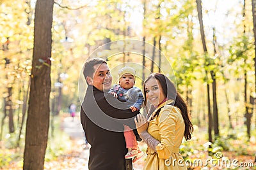
MULTIPOLYGON (((45 161, 44 170, 79 170, 88 169, 88 158, 89 158, 89 150, 90 147, 86 147, 84 145, 84 132, 83 128, 80 123, 79 114, 76 117, 71 118, 69 115, 64 115, 61 118, 61 130, 68 134, 70 138, 70 146, 68 150, 63 152, 61 155, 58 156, 56 160, 45 161)), ((200 130, 198 130, 200 131, 200 130)), ((200 132, 195 132, 196 134, 200 134, 200 132)), ((232 141, 232 148, 239 148, 239 151, 243 151, 247 153, 243 155, 241 153, 237 153, 237 151, 230 151, 230 152, 221 152, 222 160, 239 160, 238 163, 253 163, 255 160, 255 153, 256 153, 256 142, 254 140, 249 144, 244 144, 241 140, 234 140, 232 141)), ((205 143, 205 141, 198 140, 197 142, 200 143, 200 146, 205 143)), ((189 155, 190 160, 200 159, 203 160, 205 163, 207 159, 212 159, 212 157, 208 156, 208 153, 205 150, 196 150, 196 146, 198 143, 196 141, 189 141, 191 149, 191 155, 189 155)), ((142 141, 139 143, 141 150, 145 152, 147 145, 142 141)), ((22 152, 18 149, 15 150, 6 150, 6 152, 22 152)), ((6 153, 4 152, 4 153, 6 153)), ((187 153, 187 152, 186 152, 187 153)), ((7 154, 7 153, 6 153, 7 154)), ((1 161, 1 160, 0 160, 1 161)), ((133 164, 134 170, 141 170, 143 169, 143 165, 145 163, 145 157, 140 159, 138 162, 133 164)), ((203 163, 203 164, 204 164, 203 163)), ((213 162, 214 164, 216 162, 213 162)), ((1 168, 0 168, 1 169, 1 168)), ((2 168, 2 170, 21 170, 22 169, 22 161, 13 160, 8 167, 2 168)), ((191 169, 227 169, 227 167, 221 166, 196 166, 191 167, 191 169)), ((231 167, 230 169, 256 169, 256 162, 253 163, 253 167, 231 167)))

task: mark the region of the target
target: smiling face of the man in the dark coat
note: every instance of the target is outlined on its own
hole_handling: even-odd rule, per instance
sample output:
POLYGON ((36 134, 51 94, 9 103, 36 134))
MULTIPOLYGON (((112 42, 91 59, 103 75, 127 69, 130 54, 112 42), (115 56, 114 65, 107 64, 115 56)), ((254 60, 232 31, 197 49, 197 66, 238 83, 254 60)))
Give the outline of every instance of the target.
POLYGON ((94 66, 95 72, 93 73, 93 78, 87 77, 89 85, 93 85, 100 91, 108 91, 111 89, 112 76, 109 72, 109 67, 107 64, 97 64, 94 66))

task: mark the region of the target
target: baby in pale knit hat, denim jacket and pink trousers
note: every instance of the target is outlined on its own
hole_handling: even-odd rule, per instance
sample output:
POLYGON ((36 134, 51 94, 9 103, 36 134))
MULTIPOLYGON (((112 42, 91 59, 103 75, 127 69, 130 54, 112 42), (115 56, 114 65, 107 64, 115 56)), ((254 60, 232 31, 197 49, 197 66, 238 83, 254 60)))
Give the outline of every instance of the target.
MULTIPOLYGON (((140 110, 144 98, 141 90, 138 87, 134 87, 136 71, 132 67, 125 66, 118 71, 118 76, 119 84, 114 85, 113 89, 110 89, 109 92, 114 94, 119 101, 127 103, 132 112, 140 110)), ((134 158, 132 162, 136 162, 136 160, 143 156, 143 153, 138 147, 134 132, 127 125, 124 125, 124 137, 126 148, 128 148, 125 159, 134 158), (138 155, 139 153, 140 155, 138 155)))

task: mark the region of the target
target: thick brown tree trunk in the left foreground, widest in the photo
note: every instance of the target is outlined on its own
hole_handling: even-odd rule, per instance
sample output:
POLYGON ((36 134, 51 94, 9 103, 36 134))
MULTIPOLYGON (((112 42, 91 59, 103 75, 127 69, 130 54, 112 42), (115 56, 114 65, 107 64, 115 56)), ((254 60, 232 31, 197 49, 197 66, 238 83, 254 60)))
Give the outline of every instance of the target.
POLYGON ((24 170, 44 169, 51 92, 52 11, 54 0, 37 0, 24 170), (44 63, 39 62, 44 60, 44 63))

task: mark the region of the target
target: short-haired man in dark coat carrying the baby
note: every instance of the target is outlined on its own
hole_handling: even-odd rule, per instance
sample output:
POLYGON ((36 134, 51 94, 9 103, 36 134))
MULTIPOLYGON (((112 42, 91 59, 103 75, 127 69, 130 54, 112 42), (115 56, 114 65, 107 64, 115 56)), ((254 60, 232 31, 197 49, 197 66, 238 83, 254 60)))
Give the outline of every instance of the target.
POLYGON ((134 129, 134 117, 139 112, 132 112, 107 93, 111 89, 112 76, 105 60, 96 58, 86 61, 83 74, 88 88, 81 107, 81 124, 92 146, 89 169, 132 169, 131 159, 124 158, 127 148, 123 124, 134 129))

